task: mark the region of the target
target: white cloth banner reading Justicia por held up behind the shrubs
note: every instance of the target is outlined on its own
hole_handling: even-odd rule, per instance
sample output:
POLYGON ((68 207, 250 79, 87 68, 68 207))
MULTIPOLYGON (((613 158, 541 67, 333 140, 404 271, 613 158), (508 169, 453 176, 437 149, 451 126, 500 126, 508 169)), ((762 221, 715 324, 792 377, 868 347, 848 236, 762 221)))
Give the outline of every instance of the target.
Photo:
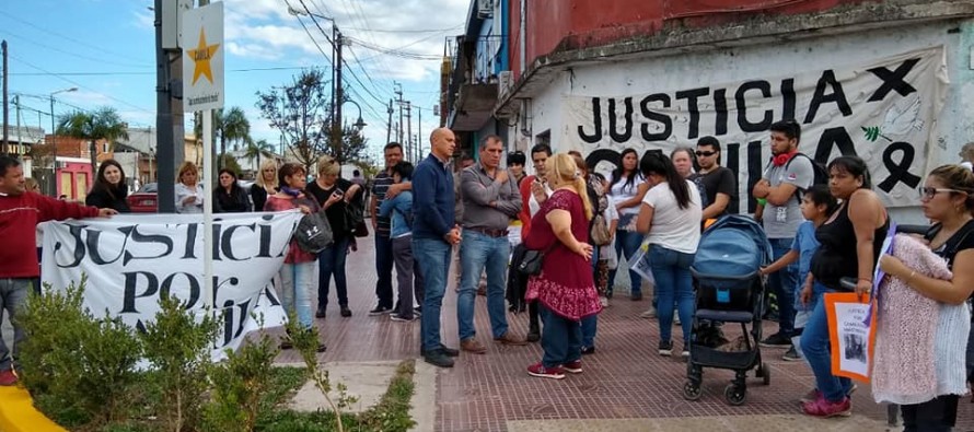
MULTIPOLYGON (((213 299, 223 318, 214 359, 258 329, 253 315, 263 315, 266 327, 287 320, 271 280, 300 219, 292 211, 213 220, 213 299)), ((42 226, 42 280, 63 289, 86 275, 84 305, 96 316, 107 311, 143 328, 154 319, 162 294, 204 311, 202 214, 116 215, 42 226)))

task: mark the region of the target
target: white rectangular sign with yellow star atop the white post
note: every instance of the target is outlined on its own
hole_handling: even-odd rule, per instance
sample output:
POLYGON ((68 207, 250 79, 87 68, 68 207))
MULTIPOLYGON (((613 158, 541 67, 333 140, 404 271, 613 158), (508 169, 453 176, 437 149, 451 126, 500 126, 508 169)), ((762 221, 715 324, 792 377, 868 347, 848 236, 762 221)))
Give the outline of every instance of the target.
POLYGON ((183 110, 223 107, 223 2, 183 13, 183 110))

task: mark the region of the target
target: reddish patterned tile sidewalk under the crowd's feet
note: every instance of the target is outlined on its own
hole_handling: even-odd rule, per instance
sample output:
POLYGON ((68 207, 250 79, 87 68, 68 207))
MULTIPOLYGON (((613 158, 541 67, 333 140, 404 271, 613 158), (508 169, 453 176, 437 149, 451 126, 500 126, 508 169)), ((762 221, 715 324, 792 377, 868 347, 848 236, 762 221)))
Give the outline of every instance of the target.
MULTIPOLYGON (((328 346, 322 355, 324 361, 418 358, 418 322, 396 323, 387 316, 368 316, 375 301, 372 249, 371 237, 360 238, 359 250, 348 259, 349 302, 355 316, 340 317, 333 300, 327 318, 317 319, 328 346)), ((454 278, 448 280, 452 283, 454 278)), ((444 342, 450 347, 459 346, 455 301, 450 285, 442 316, 444 342)), ((536 343, 505 347, 492 342, 486 301, 478 297, 477 337, 488 352, 462 353, 455 367, 438 371, 432 429, 624 432, 689 431, 705 427, 715 431, 766 430, 774 425, 775 430, 816 432, 891 430, 885 427, 885 407, 872 401, 868 385, 861 385, 855 394, 854 416, 849 419, 814 420, 803 416, 798 397, 812 387, 812 374, 803 363, 781 361, 784 350, 762 351, 770 366, 772 384, 763 386, 760 380, 749 380, 747 401, 743 406, 732 407, 723 400, 723 388, 732 377, 729 371, 705 370, 703 398, 695 402, 684 400, 686 363, 657 354, 658 326, 654 320, 638 317, 649 304, 648 297, 640 302, 614 299, 599 318, 598 351, 583 359, 585 372, 555 381, 527 376, 525 367, 542 355, 536 343), (578 419, 587 421, 565 421, 578 419)), ((526 332, 526 315, 509 314, 508 319, 513 331, 526 332)), ((765 334, 774 331, 774 323, 765 323, 765 334)), ((680 340, 679 335, 679 328, 674 328, 674 340, 680 340)), ((281 363, 297 361, 295 352, 285 352, 278 359, 281 363)), ((974 430, 974 405, 969 401, 961 400, 959 431, 974 430)))

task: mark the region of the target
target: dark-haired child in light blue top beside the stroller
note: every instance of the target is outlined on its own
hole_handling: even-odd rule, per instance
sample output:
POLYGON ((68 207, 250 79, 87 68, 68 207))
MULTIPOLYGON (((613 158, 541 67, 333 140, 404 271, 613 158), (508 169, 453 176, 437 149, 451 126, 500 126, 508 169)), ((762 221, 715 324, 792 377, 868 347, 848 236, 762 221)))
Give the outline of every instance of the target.
POLYGON ((791 243, 791 250, 781 256, 777 261, 761 269, 761 275, 770 275, 786 266, 798 261, 798 283, 795 287, 795 335, 791 337, 791 348, 785 353, 782 360, 798 361, 801 360, 801 352, 796 348, 801 337, 801 329, 809 319, 812 308, 822 296, 822 290, 813 290, 810 288, 810 300, 802 302, 803 289, 805 285, 812 285, 812 279, 809 277, 809 268, 812 262, 812 255, 819 248, 819 241, 815 240, 815 229, 822 225, 833 211, 838 207, 838 201, 828 191, 825 185, 814 185, 810 187, 801 198, 801 215, 807 219, 798 227, 795 234, 795 241, 791 243))

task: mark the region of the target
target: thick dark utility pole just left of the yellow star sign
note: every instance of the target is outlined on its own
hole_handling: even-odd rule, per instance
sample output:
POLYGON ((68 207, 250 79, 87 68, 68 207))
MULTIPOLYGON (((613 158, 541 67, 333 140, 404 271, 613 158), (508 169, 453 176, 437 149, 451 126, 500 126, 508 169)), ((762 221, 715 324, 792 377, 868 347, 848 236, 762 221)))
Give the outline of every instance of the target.
MULTIPOLYGON (((176 212, 176 140, 173 127, 173 103, 170 97, 170 63, 162 48, 163 0, 155 0, 155 156, 159 161, 156 178, 158 212, 176 212)), ((182 142, 183 137, 179 137, 182 142)), ((182 152, 179 152, 182 154, 182 152)))

